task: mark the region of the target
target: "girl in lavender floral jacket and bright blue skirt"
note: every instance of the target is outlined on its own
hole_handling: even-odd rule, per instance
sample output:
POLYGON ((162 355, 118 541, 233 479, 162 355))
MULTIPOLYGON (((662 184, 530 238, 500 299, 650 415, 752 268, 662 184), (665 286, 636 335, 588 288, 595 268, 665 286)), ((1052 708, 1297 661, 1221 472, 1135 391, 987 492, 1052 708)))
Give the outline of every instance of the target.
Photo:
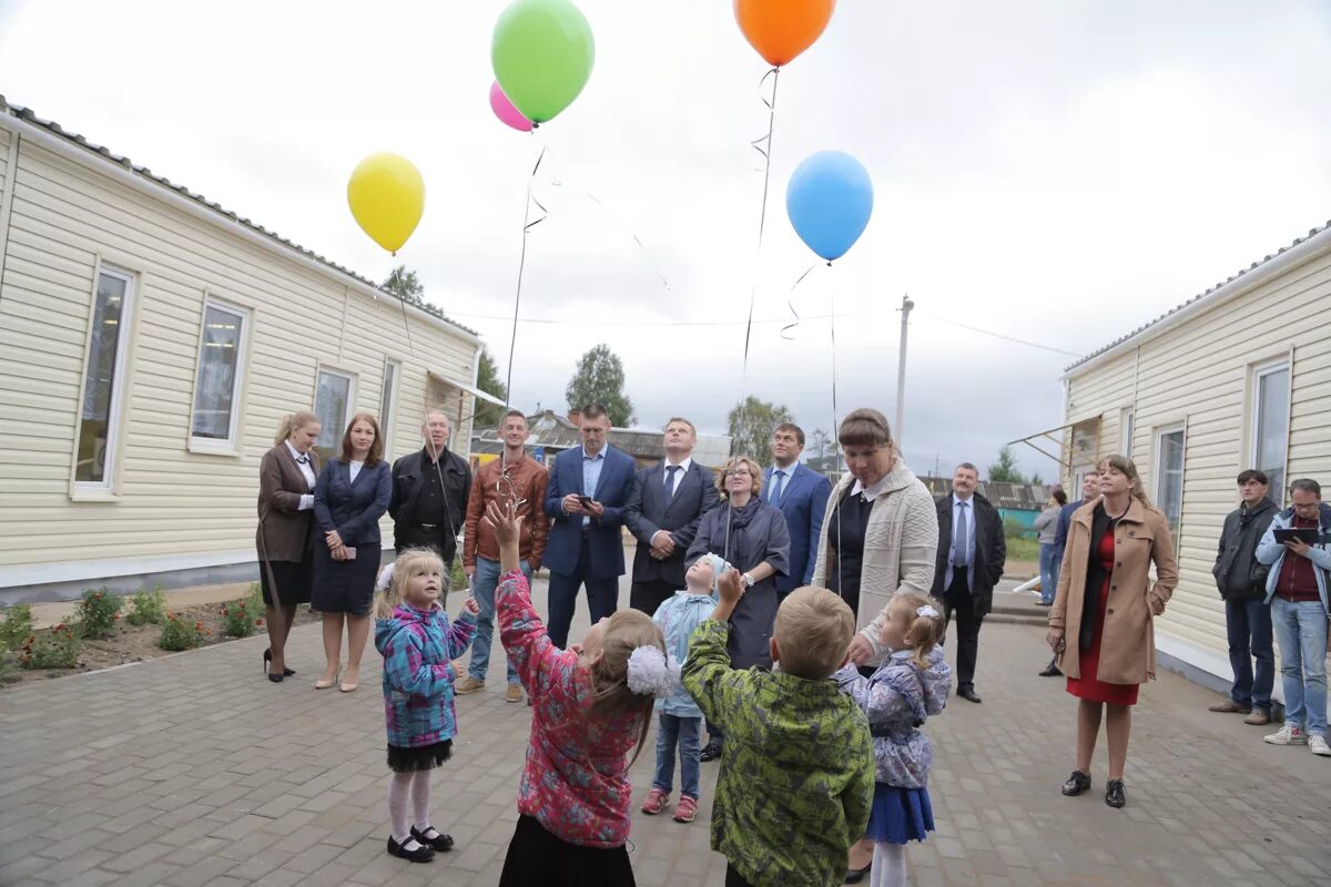
POLYGON ((833 680, 869 718, 873 735, 873 887, 905 887, 905 844, 933 831, 929 770, 933 743, 920 726, 948 703, 952 669, 938 641, 944 621, 929 600, 898 593, 885 608, 881 644, 892 650, 873 677, 848 665, 833 680))

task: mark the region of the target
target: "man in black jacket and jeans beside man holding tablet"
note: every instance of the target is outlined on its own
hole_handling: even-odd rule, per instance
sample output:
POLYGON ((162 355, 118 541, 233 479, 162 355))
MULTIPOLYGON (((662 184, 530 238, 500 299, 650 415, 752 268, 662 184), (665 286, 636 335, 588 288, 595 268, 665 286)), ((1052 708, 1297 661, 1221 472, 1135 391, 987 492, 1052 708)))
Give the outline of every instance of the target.
POLYGON ((1247 714, 1243 723, 1254 726, 1271 722, 1271 685, 1275 682, 1271 608, 1266 604, 1270 568, 1256 560, 1256 544, 1279 511, 1266 493, 1267 477, 1263 472, 1248 469, 1239 475, 1243 504, 1225 519, 1215 567, 1211 568, 1225 598, 1225 626, 1230 636, 1230 665, 1234 668, 1230 698, 1213 705, 1211 711, 1247 714))

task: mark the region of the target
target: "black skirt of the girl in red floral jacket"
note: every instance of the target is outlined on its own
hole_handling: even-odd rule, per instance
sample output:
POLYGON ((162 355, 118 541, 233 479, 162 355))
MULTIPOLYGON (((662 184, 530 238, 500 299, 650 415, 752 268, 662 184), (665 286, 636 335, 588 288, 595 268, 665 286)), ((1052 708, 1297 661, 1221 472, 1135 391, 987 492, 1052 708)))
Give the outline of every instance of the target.
POLYGON ((628 850, 582 847, 546 831, 535 817, 518 817, 499 887, 634 887, 628 850))

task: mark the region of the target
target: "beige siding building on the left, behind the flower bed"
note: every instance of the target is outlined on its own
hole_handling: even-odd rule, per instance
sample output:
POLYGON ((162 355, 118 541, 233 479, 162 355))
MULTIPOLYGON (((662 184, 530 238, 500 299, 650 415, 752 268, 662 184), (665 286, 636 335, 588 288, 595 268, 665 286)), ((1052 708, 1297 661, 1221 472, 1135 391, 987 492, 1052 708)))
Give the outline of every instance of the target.
POLYGON ((429 403, 466 455, 479 348, 0 98, 0 601, 257 577, 281 416, 333 448, 373 412, 398 456, 429 403))

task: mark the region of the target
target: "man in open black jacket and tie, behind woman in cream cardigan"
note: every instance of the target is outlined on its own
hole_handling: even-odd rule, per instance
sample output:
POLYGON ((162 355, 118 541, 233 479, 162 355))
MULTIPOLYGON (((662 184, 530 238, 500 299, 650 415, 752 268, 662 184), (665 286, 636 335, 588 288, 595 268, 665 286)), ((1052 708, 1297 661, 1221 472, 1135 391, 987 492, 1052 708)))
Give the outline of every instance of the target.
POLYGON ((993 605, 994 585, 1008 560, 998 509, 976 492, 978 485, 980 472, 964 461, 952 475, 952 495, 938 500, 938 555, 930 592, 942 601, 948 624, 957 617, 957 696, 970 702, 980 702, 980 624, 993 605))

